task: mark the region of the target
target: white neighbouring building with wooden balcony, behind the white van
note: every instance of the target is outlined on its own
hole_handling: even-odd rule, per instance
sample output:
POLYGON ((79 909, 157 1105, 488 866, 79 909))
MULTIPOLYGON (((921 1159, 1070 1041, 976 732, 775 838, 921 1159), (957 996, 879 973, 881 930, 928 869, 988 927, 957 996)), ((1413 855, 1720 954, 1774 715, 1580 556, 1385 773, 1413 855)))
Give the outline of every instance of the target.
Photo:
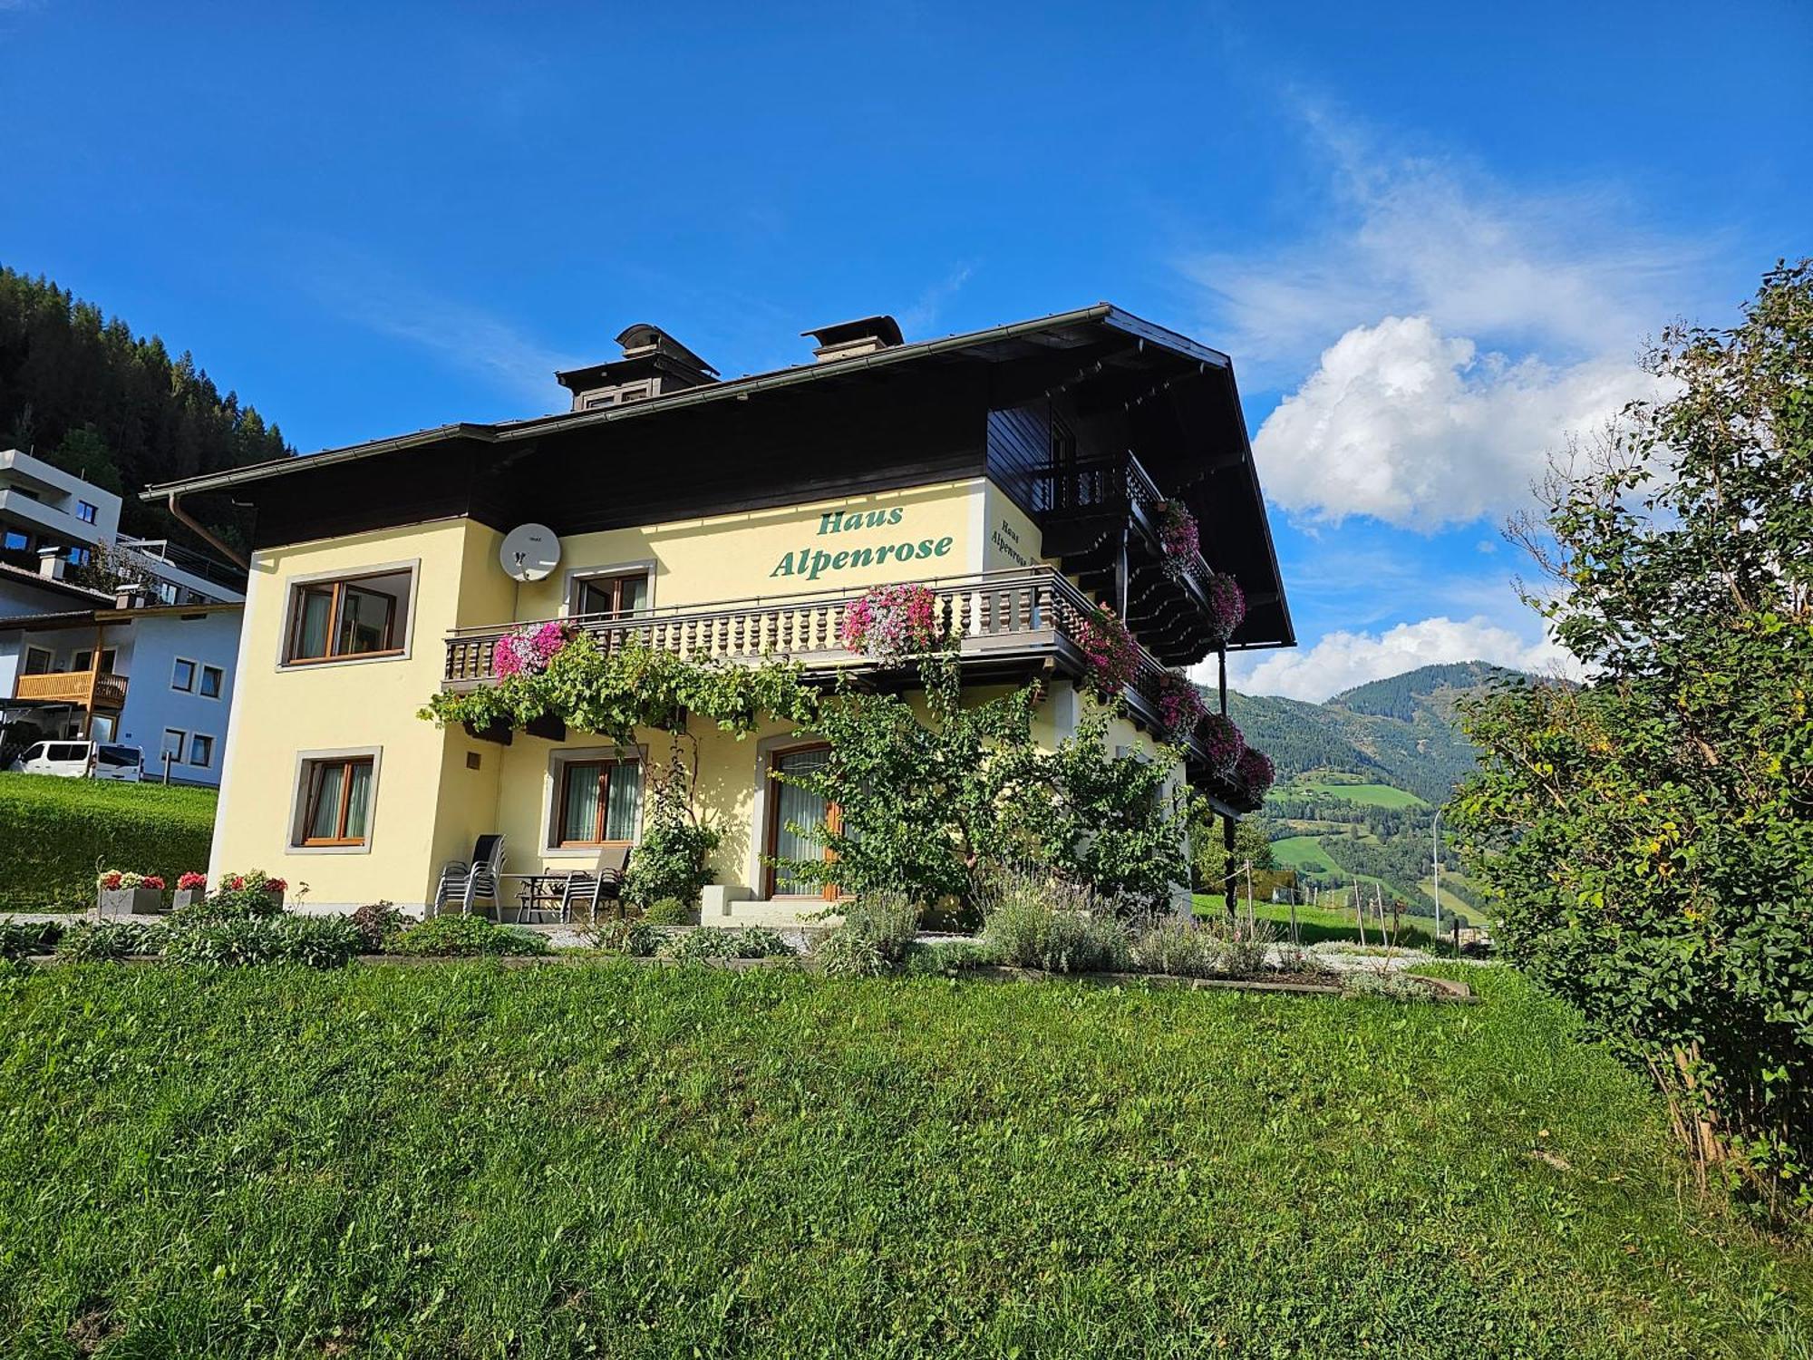
POLYGON ((0 618, 0 753, 94 736, 145 753, 145 778, 219 785, 245 606, 89 607, 0 618))

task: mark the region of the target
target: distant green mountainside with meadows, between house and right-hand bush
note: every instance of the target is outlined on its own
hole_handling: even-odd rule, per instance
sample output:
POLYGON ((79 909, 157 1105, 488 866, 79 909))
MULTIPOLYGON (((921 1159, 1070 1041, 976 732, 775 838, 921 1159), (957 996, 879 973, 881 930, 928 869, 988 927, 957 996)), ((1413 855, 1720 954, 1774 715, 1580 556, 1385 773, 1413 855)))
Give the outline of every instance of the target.
MULTIPOLYGON (((1514 678, 1458 662, 1374 680, 1325 704, 1231 693, 1229 716, 1278 767, 1264 811, 1276 863, 1311 890, 1340 896, 1358 883, 1414 914, 1432 912, 1434 811, 1476 762, 1456 707, 1514 678)), ((1447 852, 1441 874, 1443 908, 1478 914, 1481 899, 1447 852)))

